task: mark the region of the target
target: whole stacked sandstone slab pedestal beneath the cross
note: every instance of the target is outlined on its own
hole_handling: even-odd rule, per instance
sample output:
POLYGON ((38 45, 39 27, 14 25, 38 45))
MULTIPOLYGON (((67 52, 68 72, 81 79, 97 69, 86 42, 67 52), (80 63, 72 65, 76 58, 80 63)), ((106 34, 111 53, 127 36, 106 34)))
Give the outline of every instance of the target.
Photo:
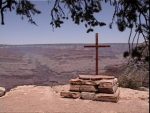
POLYGON ((118 79, 105 75, 79 75, 70 80, 69 91, 62 91, 60 95, 65 98, 118 102, 118 79))

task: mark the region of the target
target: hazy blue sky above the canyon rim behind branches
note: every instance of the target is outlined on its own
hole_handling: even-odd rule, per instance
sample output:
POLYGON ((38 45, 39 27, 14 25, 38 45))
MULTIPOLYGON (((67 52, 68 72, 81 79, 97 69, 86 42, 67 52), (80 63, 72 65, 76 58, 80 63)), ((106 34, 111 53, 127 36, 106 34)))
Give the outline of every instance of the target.
POLYGON ((51 44, 51 43, 94 43, 95 33, 99 33, 101 43, 127 43, 129 31, 119 32, 109 29, 113 8, 103 5, 99 20, 108 22, 105 27, 96 27, 94 32, 86 33, 84 25, 75 25, 72 21, 65 21, 61 28, 52 30, 50 26, 50 7, 47 1, 36 1, 37 8, 42 14, 34 17, 38 26, 21 20, 15 12, 5 14, 5 25, 0 25, 0 44, 51 44))

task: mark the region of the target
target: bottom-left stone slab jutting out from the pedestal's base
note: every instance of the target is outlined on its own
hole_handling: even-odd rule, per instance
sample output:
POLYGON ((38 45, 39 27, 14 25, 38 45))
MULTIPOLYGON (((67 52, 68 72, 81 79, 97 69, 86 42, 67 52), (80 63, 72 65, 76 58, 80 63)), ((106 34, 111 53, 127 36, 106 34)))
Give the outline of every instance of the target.
POLYGON ((64 98, 80 98, 80 92, 62 91, 60 95, 64 98))

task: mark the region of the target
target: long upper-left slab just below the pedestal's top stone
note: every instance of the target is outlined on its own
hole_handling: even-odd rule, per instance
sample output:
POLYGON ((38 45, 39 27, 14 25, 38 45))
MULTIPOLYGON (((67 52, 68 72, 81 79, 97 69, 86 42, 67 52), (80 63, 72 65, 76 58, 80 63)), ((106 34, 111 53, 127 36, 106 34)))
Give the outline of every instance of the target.
POLYGON ((71 79, 70 84, 72 85, 97 85, 95 81, 92 80, 82 80, 79 78, 71 79))

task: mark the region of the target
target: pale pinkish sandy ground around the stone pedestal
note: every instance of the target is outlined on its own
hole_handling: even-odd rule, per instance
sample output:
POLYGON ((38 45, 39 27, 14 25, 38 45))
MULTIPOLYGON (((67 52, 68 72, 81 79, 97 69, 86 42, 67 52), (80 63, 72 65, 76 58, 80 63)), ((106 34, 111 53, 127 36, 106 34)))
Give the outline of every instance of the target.
POLYGON ((60 97, 61 86, 19 86, 0 97, 0 113, 149 113, 149 93, 120 88, 118 103, 60 97))

